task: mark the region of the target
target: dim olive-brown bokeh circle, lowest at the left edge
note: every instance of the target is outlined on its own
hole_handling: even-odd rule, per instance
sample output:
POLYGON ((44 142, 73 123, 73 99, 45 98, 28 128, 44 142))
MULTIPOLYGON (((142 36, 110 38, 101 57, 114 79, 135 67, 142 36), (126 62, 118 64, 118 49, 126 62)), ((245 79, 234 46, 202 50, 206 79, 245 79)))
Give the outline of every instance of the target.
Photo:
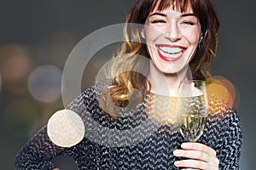
POLYGON ((1 124, 6 132, 18 137, 25 137, 36 127, 38 117, 38 111, 34 104, 26 99, 18 99, 3 110, 1 124))

